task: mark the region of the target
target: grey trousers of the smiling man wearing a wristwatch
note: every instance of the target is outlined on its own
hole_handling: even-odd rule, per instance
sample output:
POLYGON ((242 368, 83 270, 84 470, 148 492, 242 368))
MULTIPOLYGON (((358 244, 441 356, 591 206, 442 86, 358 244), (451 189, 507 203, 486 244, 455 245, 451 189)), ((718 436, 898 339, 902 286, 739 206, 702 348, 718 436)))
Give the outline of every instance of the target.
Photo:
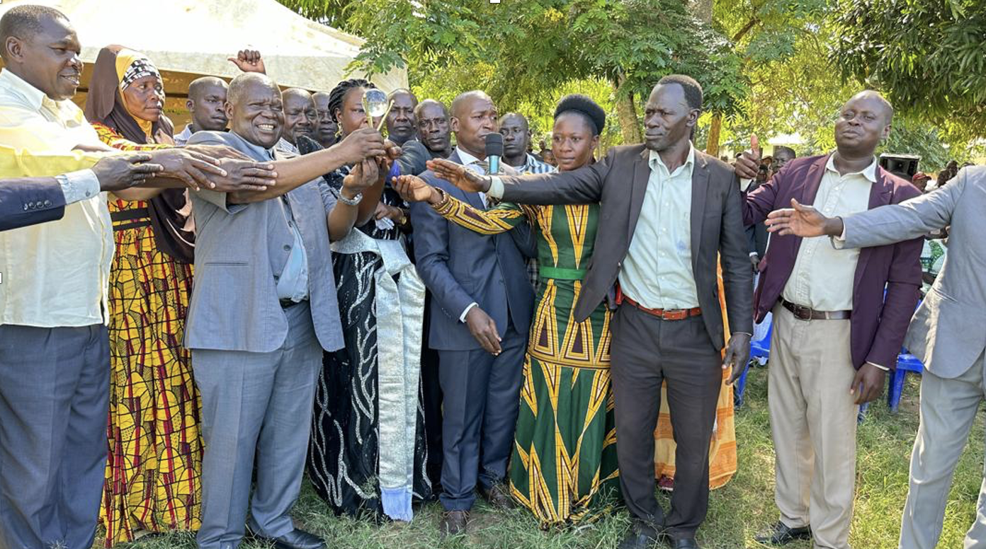
POLYGON ((250 528, 268 537, 294 529, 312 429, 321 347, 309 304, 285 309, 288 336, 271 353, 192 349, 202 396, 202 549, 235 549, 250 528))

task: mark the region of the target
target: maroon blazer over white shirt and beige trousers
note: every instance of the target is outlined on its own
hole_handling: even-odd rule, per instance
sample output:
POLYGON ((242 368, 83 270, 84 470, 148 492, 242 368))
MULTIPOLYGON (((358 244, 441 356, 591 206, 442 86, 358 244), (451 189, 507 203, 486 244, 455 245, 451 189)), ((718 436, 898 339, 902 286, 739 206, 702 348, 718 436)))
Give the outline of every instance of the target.
MULTIPOLYGON (((762 223, 773 210, 790 208, 792 198, 802 204, 814 203, 828 157, 795 159, 770 181, 744 193, 743 223, 762 223)), ((897 204, 919 194, 909 182, 878 167, 869 209, 897 204)), ((763 320, 781 297, 794 270, 801 241, 795 236, 770 236, 767 253, 760 261, 760 283, 754 297, 757 321, 763 320)), ((923 239, 915 239, 860 251, 850 319, 850 347, 857 369, 867 362, 890 369, 897 366, 897 354, 918 303, 922 245, 923 239)))

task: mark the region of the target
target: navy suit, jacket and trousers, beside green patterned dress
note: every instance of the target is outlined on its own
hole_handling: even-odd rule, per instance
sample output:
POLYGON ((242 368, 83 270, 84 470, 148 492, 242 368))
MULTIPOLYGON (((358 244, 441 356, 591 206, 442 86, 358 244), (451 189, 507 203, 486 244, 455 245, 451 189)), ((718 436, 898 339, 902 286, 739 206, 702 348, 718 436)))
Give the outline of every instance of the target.
MULTIPOLYGON (((449 160, 460 162, 453 154, 449 160)), ((421 177, 459 200, 484 209, 476 193, 424 172, 421 177)), ((534 293, 525 256, 511 234, 485 236, 446 221, 427 203, 411 206, 418 274, 431 291, 429 343, 439 351, 445 414, 442 504, 467 511, 483 488, 503 482, 513 447, 524 354, 534 293), (459 316, 476 303, 496 322, 502 352, 494 357, 459 316), (480 462, 481 461, 481 462, 480 462)), ((528 241, 530 228, 511 233, 528 241)))

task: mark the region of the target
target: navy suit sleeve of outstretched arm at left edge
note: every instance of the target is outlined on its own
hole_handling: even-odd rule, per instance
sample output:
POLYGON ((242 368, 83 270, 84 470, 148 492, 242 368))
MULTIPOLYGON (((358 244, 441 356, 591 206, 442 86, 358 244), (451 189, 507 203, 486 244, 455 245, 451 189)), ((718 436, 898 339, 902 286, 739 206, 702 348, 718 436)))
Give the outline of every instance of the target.
POLYGON ((65 215, 65 195, 56 181, 0 180, 0 231, 57 221, 65 215))

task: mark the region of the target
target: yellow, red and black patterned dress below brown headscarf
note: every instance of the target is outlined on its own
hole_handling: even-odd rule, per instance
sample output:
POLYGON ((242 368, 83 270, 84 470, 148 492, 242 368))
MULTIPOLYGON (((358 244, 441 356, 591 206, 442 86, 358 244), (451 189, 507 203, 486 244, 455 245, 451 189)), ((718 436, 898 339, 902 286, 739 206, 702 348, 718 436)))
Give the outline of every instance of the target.
MULTIPOLYGON (((93 125, 114 148, 162 148, 93 125)), ((100 513, 107 547, 141 530, 198 529, 202 468, 198 391, 181 346, 192 266, 157 249, 147 202, 110 200, 109 212, 116 253, 109 275, 109 456, 100 513)))

